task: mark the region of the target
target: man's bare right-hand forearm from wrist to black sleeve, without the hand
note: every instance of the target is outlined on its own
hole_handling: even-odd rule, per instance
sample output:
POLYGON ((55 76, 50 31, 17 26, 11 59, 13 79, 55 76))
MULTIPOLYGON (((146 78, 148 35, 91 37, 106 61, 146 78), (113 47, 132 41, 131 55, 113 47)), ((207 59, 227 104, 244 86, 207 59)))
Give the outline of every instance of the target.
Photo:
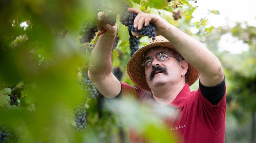
POLYGON ((201 42, 171 24, 163 36, 199 71, 201 83, 215 86, 222 82, 224 76, 220 61, 201 42))

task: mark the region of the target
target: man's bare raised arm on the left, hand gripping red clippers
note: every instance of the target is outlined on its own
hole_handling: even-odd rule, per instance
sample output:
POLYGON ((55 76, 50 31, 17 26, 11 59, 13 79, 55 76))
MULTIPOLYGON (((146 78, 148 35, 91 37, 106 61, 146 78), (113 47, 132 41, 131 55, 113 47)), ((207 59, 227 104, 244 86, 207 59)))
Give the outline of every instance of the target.
POLYGON ((117 26, 103 24, 102 14, 99 14, 99 29, 107 30, 102 34, 92 50, 88 76, 100 92, 107 98, 118 95, 121 90, 120 82, 112 74, 112 50, 116 38, 117 26))

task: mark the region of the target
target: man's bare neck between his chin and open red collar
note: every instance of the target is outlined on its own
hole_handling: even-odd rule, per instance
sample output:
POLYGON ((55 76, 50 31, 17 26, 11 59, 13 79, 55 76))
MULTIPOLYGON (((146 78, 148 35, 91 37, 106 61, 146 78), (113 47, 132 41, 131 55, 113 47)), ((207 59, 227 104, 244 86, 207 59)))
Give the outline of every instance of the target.
POLYGON ((177 86, 173 86, 170 88, 158 88, 152 91, 153 97, 160 106, 169 105, 178 96, 185 84, 186 83, 181 83, 177 86))

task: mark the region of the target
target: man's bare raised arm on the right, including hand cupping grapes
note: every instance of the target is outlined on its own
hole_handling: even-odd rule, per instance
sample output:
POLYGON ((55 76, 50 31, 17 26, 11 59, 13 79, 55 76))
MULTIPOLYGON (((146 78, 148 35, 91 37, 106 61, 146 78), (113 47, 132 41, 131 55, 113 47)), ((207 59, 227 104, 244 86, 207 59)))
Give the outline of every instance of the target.
MULTIPOLYGON (((130 8, 129 12, 137 14, 134 19, 134 27, 141 30, 149 22, 153 23, 157 35, 168 39, 200 73, 200 82, 205 86, 215 86, 224 79, 224 73, 220 61, 201 42, 182 32, 158 15, 143 13, 130 8)), ((136 35, 134 33, 134 35, 136 35)))

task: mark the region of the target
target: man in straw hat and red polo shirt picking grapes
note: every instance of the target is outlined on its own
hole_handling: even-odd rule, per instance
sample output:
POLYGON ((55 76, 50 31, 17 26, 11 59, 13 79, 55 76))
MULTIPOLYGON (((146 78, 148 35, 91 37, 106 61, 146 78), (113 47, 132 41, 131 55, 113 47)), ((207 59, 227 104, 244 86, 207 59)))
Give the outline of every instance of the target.
MULTIPOLYGON (((90 64, 95 66, 90 66, 88 73, 92 82, 106 98, 123 98, 132 93, 152 110, 174 107, 175 120, 163 119, 160 123, 181 133, 181 142, 224 142, 226 85, 220 61, 199 41, 161 17, 135 8, 128 11, 137 14, 135 28, 141 30, 143 24, 151 22, 158 35, 127 64, 129 77, 140 89, 119 82, 111 73, 116 25, 103 26, 107 32, 99 37, 92 51, 90 64), (191 92, 189 86, 199 75, 199 88, 191 92)), ((131 142, 150 142, 149 138, 137 137, 130 131, 131 142)))

